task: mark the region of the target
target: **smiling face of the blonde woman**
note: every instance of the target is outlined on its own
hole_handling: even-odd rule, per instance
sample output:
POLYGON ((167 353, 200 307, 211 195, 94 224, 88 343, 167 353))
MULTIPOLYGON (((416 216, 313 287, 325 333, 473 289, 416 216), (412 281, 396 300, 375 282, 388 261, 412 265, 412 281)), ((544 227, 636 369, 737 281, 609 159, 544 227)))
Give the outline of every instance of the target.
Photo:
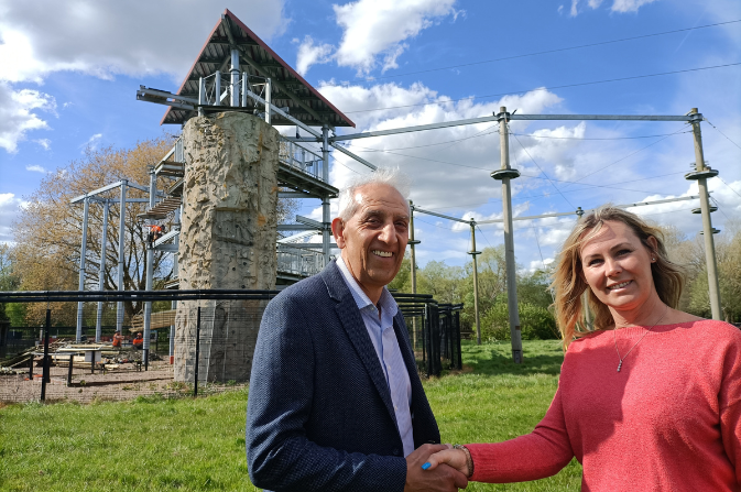
MULTIPOLYGON (((652 247, 656 240, 649 238, 652 247)), ((581 269, 589 287, 608 307, 635 309, 655 292, 651 251, 620 221, 604 221, 581 247, 581 269)))

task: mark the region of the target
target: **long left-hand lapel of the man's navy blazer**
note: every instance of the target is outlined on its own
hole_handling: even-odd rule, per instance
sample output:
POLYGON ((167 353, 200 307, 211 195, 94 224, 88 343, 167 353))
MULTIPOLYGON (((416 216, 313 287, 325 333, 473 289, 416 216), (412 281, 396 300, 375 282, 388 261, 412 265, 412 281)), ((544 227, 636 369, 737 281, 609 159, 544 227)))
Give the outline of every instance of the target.
POLYGON ((373 385, 381 395, 381 400, 383 401, 389 415, 396 425, 396 428, 399 428, 394 406, 391 402, 391 391, 389 390, 389 384, 383 375, 381 362, 373 348, 373 342, 368 335, 368 329, 366 328, 366 322, 358 309, 358 305, 356 304, 349 287, 345 283, 345 278, 341 276, 342 273, 335 262, 331 262, 324 269, 322 275, 327 284, 329 295, 338 300, 336 310, 345 331, 347 331, 356 352, 358 352, 358 357, 366 367, 368 375, 370 375, 373 385))

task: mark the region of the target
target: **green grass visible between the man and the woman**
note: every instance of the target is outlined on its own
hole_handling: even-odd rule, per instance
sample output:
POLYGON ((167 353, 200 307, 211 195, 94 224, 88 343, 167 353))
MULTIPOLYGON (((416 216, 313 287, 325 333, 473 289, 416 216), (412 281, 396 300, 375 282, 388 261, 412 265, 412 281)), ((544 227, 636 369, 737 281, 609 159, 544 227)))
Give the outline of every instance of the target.
MULTIPOLYGON (((425 383, 443 442, 499 442, 527 434, 545 415, 564 361, 559 340, 523 341, 524 361, 512 362, 509 341, 464 342, 465 372, 425 383), (467 367, 472 369, 466 372, 467 367)), ((471 483, 468 491, 578 491, 576 461, 555 477, 512 484, 471 483)))

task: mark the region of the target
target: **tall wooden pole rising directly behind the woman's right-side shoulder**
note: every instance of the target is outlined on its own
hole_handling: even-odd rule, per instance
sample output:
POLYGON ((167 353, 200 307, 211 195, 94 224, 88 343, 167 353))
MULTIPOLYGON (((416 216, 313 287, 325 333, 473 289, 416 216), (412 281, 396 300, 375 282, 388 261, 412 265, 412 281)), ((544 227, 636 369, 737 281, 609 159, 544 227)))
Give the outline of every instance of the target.
POLYGON ((689 122, 693 125, 693 136, 695 138, 695 171, 686 174, 685 178, 697 181, 697 188, 700 195, 700 212, 702 214, 702 239, 705 240, 705 261, 708 270, 710 311, 712 313, 712 319, 721 319, 718 263, 716 261, 715 240, 712 239, 715 230, 712 229, 712 220, 710 219, 710 200, 708 197, 708 178, 718 176, 718 171, 705 165, 702 135, 700 133, 702 114, 697 112, 697 108, 693 108, 688 114, 690 116, 689 122))

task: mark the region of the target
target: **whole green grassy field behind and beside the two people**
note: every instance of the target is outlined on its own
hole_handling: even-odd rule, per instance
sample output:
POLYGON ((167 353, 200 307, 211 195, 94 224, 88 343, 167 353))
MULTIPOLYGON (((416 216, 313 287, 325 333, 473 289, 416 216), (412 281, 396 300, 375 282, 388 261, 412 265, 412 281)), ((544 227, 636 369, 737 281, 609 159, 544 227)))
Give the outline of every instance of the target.
MULTIPOLYGON (((464 347, 462 373, 425 382, 443 440, 525 434, 556 391, 557 341, 526 341, 515 367, 506 343, 464 347)), ((254 491, 244 459, 243 390, 199 400, 139 398, 0 408, 0 491, 254 491)), ((571 462, 556 477, 469 491, 579 490, 571 462)))

